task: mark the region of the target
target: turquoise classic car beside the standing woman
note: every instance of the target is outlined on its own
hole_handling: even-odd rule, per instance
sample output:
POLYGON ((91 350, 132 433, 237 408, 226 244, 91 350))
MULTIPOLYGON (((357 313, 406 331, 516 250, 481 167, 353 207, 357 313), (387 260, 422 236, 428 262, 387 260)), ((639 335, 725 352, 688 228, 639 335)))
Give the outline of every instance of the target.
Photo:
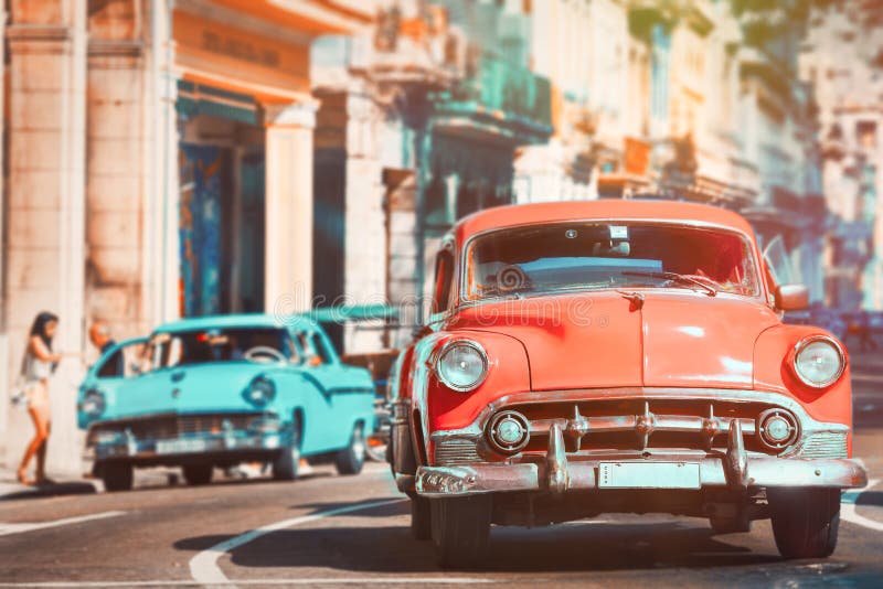
POLYGON ((107 350, 79 387, 77 419, 108 491, 131 489, 137 467, 181 467, 189 484, 242 462, 294 480, 302 457, 357 474, 374 387, 309 317, 205 317, 107 350))

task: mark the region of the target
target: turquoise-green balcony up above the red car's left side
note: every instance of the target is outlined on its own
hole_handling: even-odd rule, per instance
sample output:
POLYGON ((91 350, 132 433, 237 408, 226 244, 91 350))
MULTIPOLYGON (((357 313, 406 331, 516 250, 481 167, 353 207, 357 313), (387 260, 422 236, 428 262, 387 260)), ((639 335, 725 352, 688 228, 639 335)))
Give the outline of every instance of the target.
POLYGON ((440 124, 467 117, 498 132, 535 142, 553 132, 552 86, 525 67, 490 55, 479 57, 471 73, 449 92, 440 93, 440 124))

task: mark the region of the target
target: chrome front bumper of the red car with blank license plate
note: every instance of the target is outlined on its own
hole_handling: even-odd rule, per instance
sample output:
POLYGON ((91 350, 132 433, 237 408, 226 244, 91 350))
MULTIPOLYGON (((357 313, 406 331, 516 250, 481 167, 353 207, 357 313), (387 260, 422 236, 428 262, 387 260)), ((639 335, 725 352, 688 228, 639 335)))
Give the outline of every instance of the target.
POLYGON ((594 490, 701 490, 727 488, 859 488, 868 483, 862 465, 849 459, 796 459, 749 456, 738 421, 733 421, 726 452, 720 456, 649 453, 618 460, 571 457, 554 428, 543 460, 521 463, 476 463, 421 467, 415 490, 428 497, 499 492, 563 494, 594 490))

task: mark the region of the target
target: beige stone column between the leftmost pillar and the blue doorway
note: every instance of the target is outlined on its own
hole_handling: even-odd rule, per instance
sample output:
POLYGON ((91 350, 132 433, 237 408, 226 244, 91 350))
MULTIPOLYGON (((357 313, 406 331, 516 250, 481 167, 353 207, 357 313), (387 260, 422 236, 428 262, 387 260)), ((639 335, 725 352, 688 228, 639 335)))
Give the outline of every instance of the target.
POLYGON ((143 312, 141 229, 148 103, 141 44, 106 41, 103 32, 89 31, 85 312, 87 323, 104 320, 121 340, 151 328, 143 312))

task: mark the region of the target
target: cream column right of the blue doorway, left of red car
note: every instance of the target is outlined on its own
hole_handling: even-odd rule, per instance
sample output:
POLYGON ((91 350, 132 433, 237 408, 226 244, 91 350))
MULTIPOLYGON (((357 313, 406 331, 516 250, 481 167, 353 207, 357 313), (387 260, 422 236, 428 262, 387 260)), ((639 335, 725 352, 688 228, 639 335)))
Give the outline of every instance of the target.
POLYGON ((264 308, 280 315, 312 301, 313 101, 265 107, 266 232, 264 308))

